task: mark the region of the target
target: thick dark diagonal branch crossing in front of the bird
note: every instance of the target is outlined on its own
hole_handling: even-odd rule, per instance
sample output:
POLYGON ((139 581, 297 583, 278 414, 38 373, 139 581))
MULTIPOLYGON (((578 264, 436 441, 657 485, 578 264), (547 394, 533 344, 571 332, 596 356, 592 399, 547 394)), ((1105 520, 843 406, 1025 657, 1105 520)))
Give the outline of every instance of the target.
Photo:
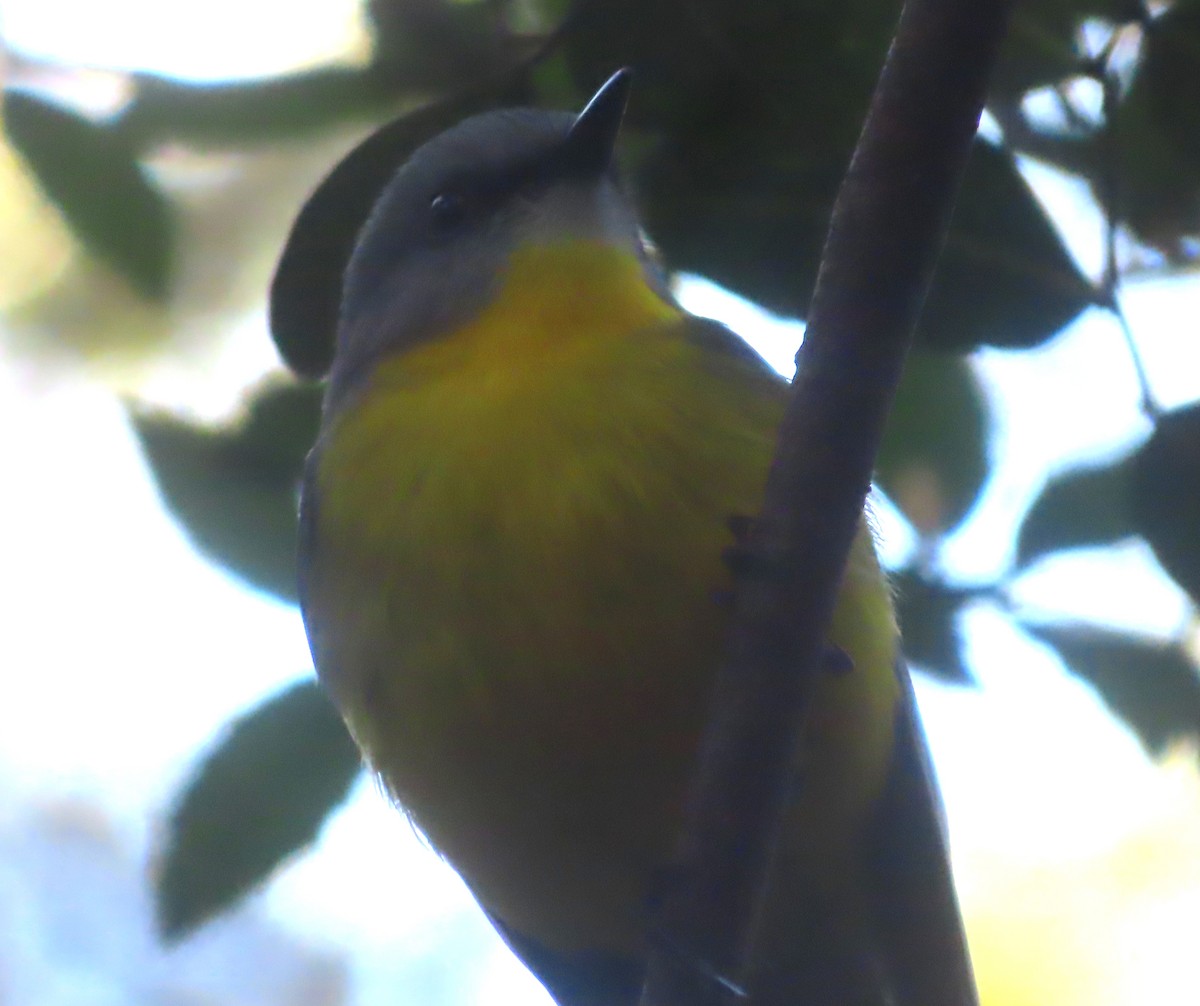
POLYGON ((736 993, 790 754, 1012 0, 908 0, 826 239, 642 1002, 736 993))

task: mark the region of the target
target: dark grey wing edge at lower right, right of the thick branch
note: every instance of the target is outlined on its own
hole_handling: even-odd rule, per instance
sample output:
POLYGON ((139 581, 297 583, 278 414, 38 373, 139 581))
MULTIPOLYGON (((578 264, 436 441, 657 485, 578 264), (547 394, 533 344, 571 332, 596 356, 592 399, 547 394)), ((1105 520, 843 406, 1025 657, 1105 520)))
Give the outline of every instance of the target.
POLYGON ((868 854, 877 946, 896 1006, 978 1006, 946 815, 902 660, 896 677, 895 751, 868 854))

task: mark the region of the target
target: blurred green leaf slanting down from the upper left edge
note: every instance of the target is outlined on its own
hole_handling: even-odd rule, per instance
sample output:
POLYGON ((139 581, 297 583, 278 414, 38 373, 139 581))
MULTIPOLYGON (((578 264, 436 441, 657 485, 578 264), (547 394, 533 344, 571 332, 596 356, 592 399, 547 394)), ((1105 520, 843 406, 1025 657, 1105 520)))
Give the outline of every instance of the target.
POLYGON ((116 130, 23 91, 5 92, 4 126, 79 240, 143 297, 166 297, 170 209, 116 130))

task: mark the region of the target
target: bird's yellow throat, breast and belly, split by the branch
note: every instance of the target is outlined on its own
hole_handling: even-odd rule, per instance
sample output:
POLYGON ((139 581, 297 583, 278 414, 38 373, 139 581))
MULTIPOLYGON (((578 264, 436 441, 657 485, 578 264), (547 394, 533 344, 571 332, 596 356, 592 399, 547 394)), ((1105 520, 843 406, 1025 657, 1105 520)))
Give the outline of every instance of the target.
MULTIPOLYGON (((359 743, 484 906, 551 948, 629 952, 720 660, 727 519, 757 510, 784 388, 594 253, 538 311, 518 265, 472 330, 380 364, 334 419, 306 619, 359 743)), ((832 631, 856 670, 821 682, 803 754, 815 875, 882 786, 893 636, 864 528, 832 631)))

